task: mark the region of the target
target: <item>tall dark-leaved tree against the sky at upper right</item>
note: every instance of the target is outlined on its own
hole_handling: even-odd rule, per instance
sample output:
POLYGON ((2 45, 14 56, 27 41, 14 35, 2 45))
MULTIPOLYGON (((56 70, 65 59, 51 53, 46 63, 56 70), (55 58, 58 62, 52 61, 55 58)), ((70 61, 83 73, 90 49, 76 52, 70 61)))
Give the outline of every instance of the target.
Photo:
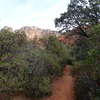
POLYGON ((55 26, 59 27, 60 31, 78 27, 80 34, 87 37, 84 26, 99 23, 99 11, 100 2, 98 0, 88 0, 88 2, 87 0, 71 0, 67 12, 55 19, 55 26))

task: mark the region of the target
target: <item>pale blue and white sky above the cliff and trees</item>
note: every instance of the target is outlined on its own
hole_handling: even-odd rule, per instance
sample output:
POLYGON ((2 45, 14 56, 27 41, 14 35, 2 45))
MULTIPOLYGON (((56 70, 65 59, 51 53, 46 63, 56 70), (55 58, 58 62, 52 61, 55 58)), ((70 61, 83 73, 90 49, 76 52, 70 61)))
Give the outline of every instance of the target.
POLYGON ((69 0, 0 0, 0 28, 36 26, 55 30, 54 19, 67 11, 69 0))

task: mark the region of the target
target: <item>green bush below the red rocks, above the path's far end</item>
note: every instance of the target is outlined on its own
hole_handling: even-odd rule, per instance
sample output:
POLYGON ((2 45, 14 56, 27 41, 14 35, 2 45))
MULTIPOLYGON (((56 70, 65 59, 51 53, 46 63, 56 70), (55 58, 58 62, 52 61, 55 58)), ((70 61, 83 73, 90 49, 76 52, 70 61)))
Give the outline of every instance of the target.
POLYGON ((57 56, 61 66, 72 64, 72 48, 61 43, 56 37, 49 37, 46 49, 57 56))

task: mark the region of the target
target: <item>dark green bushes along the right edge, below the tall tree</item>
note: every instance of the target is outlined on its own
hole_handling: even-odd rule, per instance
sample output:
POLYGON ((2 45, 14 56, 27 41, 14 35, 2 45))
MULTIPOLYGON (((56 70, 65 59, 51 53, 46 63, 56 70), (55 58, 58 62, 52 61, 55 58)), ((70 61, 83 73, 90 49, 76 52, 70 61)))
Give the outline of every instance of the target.
POLYGON ((89 32, 91 36, 87 40, 89 43, 87 55, 75 65, 78 72, 75 86, 76 100, 100 99, 100 25, 92 27, 89 32))

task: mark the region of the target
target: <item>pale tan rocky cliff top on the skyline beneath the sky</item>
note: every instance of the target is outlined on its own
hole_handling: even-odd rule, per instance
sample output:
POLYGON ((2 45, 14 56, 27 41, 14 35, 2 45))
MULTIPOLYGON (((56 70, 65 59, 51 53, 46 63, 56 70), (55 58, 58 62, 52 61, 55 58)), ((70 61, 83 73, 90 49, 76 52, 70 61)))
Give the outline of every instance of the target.
POLYGON ((48 36, 59 36, 59 33, 57 31, 51 31, 51 30, 45 30, 45 29, 40 29, 37 27, 22 27, 19 30, 16 30, 19 32, 24 32, 27 36, 28 39, 40 39, 43 37, 48 37, 48 36))

